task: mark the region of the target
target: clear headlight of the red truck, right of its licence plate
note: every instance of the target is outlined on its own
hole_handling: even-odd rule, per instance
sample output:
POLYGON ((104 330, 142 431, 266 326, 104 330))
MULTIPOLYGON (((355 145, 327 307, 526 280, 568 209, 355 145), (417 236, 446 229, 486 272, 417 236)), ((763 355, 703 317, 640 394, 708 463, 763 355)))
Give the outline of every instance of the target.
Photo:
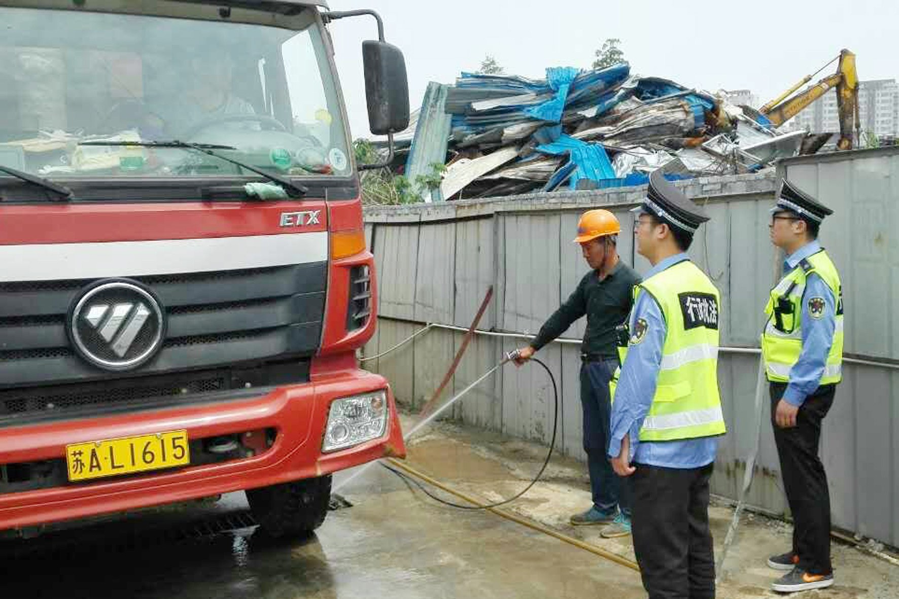
POLYGON ((386 429, 385 389, 334 399, 328 411, 322 451, 335 451, 377 439, 384 435, 386 429))

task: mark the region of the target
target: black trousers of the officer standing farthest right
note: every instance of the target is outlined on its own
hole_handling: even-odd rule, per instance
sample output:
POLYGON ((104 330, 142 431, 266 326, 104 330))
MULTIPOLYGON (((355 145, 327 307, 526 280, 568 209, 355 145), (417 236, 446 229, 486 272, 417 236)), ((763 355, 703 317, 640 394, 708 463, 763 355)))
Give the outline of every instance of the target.
POLYGON ((778 445, 780 474, 793 514, 793 552, 809 574, 831 573, 831 496, 818 457, 821 421, 833 404, 835 385, 822 385, 799 407, 797 425, 780 428, 774 421, 785 383, 770 383, 771 425, 778 445))

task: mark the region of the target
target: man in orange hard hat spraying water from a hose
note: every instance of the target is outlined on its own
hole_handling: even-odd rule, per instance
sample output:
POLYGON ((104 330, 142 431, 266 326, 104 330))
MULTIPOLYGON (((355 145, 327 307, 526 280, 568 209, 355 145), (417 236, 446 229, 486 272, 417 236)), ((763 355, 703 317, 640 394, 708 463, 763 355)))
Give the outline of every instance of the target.
POLYGON ((583 408, 583 451, 587 453, 593 504, 571 517, 574 525, 604 525, 606 538, 630 534, 628 487, 619 479, 606 457, 609 447, 609 381, 619 367, 619 326, 624 324, 633 304, 633 289, 640 276, 623 264, 618 255, 621 225, 609 210, 587 210, 577 223, 577 237, 590 272, 583 275, 537 337, 518 352, 516 362, 530 360, 580 317, 587 317, 581 344, 581 407, 583 408))

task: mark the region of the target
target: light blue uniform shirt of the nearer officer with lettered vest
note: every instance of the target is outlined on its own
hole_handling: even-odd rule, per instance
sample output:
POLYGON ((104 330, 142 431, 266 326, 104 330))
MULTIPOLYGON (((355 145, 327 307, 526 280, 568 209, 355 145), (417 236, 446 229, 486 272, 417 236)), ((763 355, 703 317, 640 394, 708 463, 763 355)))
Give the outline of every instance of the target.
MULTIPOLYGON (((674 264, 690 260, 687 254, 665 258, 645 275, 645 279, 674 264)), ((715 461, 717 437, 702 437, 684 441, 640 443, 640 427, 653 404, 662 347, 668 331, 662 308, 649 293, 640 293, 630 314, 630 330, 637 318, 646 321, 646 332, 639 344, 628 348, 628 357, 621 365, 615 402, 612 404, 609 456, 618 457, 621 440, 630 434, 630 461, 663 468, 699 468, 715 461)))

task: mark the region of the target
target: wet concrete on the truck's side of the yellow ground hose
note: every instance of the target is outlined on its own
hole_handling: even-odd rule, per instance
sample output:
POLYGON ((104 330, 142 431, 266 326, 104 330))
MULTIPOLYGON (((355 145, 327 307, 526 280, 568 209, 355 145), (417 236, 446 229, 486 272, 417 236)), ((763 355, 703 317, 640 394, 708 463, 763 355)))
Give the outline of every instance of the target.
POLYGON ((369 469, 343 491, 354 505, 328 514, 305 541, 270 541, 253 529, 166 539, 217 514, 240 513, 242 494, 40 537, 20 547, 17 559, 3 541, 0 597, 487 599, 584 597, 599 589, 642 596, 633 572, 492 514, 423 504, 385 469, 369 469), (123 538, 123 529, 133 534, 123 538), (87 541, 73 542, 79 535, 87 541))

